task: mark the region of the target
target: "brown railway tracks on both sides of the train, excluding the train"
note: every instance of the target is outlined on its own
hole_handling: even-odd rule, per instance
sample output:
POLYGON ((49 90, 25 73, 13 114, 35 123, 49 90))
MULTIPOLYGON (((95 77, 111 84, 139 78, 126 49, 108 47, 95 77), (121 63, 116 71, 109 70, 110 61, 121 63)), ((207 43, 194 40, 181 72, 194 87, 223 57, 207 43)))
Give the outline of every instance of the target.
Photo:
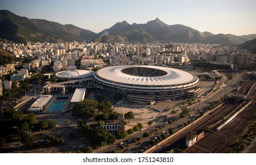
MULTIPOLYGON (((239 89, 237 94, 242 95, 251 95, 252 97, 256 97, 256 88, 253 87, 255 84, 255 80, 248 80, 242 85, 239 89), (253 87, 253 88, 252 88, 253 87)), ((184 143, 185 138, 193 132, 197 130, 205 130, 206 128, 209 129, 209 133, 206 137, 203 137, 200 141, 202 141, 202 145, 200 143, 196 143, 195 146, 190 147, 186 150, 186 152, 190 153, 207 153, 207 152, 218 152, 222 147, 225 147, 228 140, 231 140, 235 133, 239 131, 240 128, 244 127, 254 115, 254 110, 251 110, 251 107, 254 108, 256 103, 253 102, 244 111, 242 111, 238 116, 234 118, 227 126, 223 127, 223 130, 219 131, 218 133, 213 131, 218 124, 223 123, 226 118, 232 116, 236 111, 239 110, 243 105, 245 105, 247 101, 243 103, 241 101, 235 101, 229 99, 225 105, 217 108, 212 113, 208 114, 208 116, 204 117, 196 124, 192 124, 191 127, 186 128, 182 133, 177 134, 177 136, 173 137, 166 143, 161 144, 156 149, 152 150, 152 153, 163 153, 166 150, 171 149, 179 149, 181 143, 184 143), (239 121, 237 121, 239 120, 239 121), (236 121, 236 122, 235 122, 236 121), (232 128, 234 127, 234 128, 232 128), (224 134, 225 133, 225 134, 224 134), (208 136, 210 135, 210 136, 208 136), (205 142, 204 142, 205 141, 205 142)))

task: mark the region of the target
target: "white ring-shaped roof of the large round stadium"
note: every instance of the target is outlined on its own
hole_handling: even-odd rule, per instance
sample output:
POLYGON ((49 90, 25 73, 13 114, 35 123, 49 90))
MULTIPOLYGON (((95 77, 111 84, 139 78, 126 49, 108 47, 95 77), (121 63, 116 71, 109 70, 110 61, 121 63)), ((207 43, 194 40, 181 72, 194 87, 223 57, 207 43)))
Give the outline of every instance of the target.
POLYGON ((118 84, 131 85, 156 85, 156 86, 171 86, 179 84, 187 84, 195 81, 197 77, 189 72, 177 70, 168 67, 158 67, 150 65, 121 65, 114 67, 106 67, 96 72, 99 78, 106 81, 118 82, 118 84), (160 70, 162 72, 159 76, 137 76, 124 72, 125 68, 148 68, 149 70, 160 70))

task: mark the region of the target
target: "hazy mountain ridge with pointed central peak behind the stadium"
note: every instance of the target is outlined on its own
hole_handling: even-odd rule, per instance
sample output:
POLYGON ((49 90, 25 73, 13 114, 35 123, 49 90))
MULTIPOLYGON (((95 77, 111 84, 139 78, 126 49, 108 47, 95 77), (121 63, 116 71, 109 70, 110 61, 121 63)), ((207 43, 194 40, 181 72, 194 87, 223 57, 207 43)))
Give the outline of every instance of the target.
POLYGON ((184 25, 167 25, 160 19, 148 21, 146 24, 128 24, 126 21, 118 22, 109 29, 99 33, 98 42, 159 42, 174 41, 187 43, 210 43, 234 45, 242 44, 249 38, 256 38, 256 34, 236 36, 232 34, 212 34, 199 32, 184 25), (117 39, 117 40, 115 40, 117 39))

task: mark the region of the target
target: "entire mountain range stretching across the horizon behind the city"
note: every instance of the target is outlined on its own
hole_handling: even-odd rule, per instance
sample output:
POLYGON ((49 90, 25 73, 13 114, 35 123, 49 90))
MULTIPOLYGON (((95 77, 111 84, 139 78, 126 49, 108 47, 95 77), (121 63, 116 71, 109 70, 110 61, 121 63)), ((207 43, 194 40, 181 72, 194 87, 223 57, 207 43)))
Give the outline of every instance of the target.
POLYGON ((44 19, 28 19, 7 10, 0 10, 0 38, 14 42, 56 42, 63 41, 96 41, 96 42, 187 42, 215 43, 224 45, 242 44, 256 38, 256 34, 236 36, 232 34, 212 34, 200 32, 184 25, 167 25, 156 18, 146 24, 128 24, 117 22, 102 32, 95 32, 62 25, 44 19))

